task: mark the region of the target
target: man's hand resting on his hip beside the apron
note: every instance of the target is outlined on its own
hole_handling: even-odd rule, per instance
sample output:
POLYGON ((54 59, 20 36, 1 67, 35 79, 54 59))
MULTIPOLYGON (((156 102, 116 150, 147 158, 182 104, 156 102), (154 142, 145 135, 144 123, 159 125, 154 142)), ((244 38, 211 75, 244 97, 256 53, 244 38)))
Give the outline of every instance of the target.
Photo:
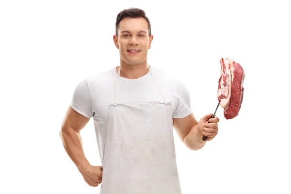
POLYGON ((91 187, 97 187, 102 182, 102 166, 89 165, 84 170, 80 170, 86 183, 91 187))

